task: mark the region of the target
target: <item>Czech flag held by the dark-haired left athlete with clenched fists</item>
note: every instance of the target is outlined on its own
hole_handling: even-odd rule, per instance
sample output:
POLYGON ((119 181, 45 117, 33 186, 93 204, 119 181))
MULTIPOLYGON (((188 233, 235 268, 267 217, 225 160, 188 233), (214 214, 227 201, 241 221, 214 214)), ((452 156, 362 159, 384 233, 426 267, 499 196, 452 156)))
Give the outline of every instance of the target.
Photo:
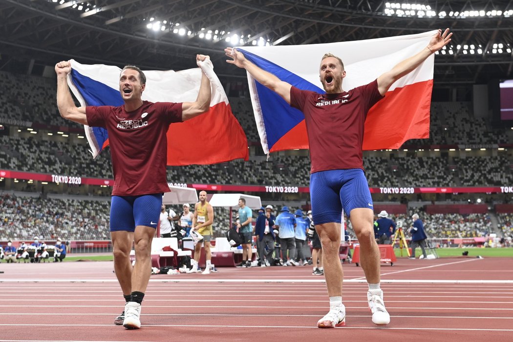
MULTIPOLYGON (((71 68, 68 86, 82 106, 123 104, 119 90, 120 68, 83 65, 73 59, 71 68)), ((200 90, 202 73, 207 75, 211 84, 210 110, 169 126, 168 165, 214 164, 248 159, 246 135, 231 112, 228 97, 211 63, 201 63, 201 69, 178 72, 144 71, 146 88, 142 98, 150 102, 194 102, 200 90)), ((85 126, 85 132, 95 158, 109 144, 107 130, 85 126)))

